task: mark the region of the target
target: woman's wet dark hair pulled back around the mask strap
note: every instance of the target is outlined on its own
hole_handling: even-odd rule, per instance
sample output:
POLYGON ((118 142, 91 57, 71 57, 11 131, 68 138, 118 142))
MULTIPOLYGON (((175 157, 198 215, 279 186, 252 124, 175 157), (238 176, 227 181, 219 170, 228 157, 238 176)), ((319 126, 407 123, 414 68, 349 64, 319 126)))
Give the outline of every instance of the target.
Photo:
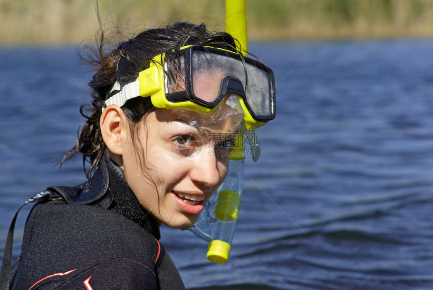
MULTIPOLYGON (((134 81, 141 70, 149 67, 153 57, 185 45, 206 45, 236 51, 235 39, 230 34, 210 32, 204 24, 194 25, 187 22, 143 31, 107 53, 105 43, 104 33, 101 32, 96 53, 86 53, 86 57, 83 57, 86 63, 96 66, 96 73, 89 82, 93 89, 92 104, 81 106, 80 113, 87 120, 82 124, 81 130, 79 129, 77 143, 61 161, 63 163, 81 153, 83 168, 89 179, 107 151, 99 119, 105 106, 104 101, 110 97, 108 94, 116 81, 120 85, 134 81), (89 168, 86 168, 86 162, 90 163, 89 168)), ((135 132, 135 125, 140 120, 155 110, 150 98, 130 99, 121 108, 129 120, 131 132, 135 132)))

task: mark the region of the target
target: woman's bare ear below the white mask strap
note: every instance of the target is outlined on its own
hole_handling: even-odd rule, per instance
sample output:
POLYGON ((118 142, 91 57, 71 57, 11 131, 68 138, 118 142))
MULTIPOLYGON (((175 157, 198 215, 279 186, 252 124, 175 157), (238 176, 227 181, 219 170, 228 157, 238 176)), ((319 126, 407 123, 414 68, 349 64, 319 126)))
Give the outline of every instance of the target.
POLYGON ((111 153, 123 155, 124 140, 128 134, 128 123, 122 109, 117 105, 110 105, 102 112, 99 119, 102 138, 111 153))

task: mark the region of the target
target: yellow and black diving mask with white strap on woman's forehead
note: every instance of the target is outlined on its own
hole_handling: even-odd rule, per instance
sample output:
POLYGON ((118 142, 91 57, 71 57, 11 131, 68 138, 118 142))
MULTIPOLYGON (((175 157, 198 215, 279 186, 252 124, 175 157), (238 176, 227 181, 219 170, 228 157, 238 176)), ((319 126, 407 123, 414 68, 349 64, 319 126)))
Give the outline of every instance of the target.
POLYGON ((272 70, 257 60, 221 48, 193 45, 157 55, 134 82, 124 86, 116 82, 110 95, 113 93, 105 101, 107 106, 122 106, 141 96, 151 97, 157 108, 201 113, 212 111, 232 93, 239 98, 247 129, 275 118, 272 70))

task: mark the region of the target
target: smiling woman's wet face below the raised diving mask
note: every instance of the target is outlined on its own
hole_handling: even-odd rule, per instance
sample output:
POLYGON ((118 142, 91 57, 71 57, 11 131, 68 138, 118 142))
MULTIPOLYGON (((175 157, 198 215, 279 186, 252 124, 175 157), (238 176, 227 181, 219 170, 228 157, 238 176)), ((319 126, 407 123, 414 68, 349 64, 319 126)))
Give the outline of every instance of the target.
POLYGON ((136 148, 129 138, 122 155, 126 181, 159 224, 190 228, 223 182, 234 137, 224 126, 194 127, 157 109, 139 125, 136 148))

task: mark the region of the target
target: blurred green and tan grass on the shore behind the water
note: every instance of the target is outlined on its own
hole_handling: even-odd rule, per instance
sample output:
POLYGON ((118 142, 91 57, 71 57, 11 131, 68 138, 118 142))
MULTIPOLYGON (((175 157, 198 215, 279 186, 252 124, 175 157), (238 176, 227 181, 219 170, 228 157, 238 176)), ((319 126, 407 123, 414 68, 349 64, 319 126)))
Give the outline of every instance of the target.
MULTIPOLYGON (((224 30, 224 0, 99 0, 122 37, 175 21, 224 30)), ((247 0, 250 40, 433 37, 433 0, 247 0)), ((0 44, 92 41, 96 1, 0 0, 0 44)))

